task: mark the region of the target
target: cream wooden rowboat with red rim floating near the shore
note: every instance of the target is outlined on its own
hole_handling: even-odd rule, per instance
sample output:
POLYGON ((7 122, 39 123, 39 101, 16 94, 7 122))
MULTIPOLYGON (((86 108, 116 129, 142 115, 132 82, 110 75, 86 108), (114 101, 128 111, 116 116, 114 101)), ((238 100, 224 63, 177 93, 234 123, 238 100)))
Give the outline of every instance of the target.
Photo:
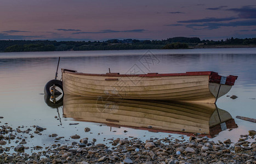
POLYGON ((62 69, 66 95, 155 99, 215 103, 234 85, 237 76, 221 77, 216 72, 173 74, 88 74, 62 69))

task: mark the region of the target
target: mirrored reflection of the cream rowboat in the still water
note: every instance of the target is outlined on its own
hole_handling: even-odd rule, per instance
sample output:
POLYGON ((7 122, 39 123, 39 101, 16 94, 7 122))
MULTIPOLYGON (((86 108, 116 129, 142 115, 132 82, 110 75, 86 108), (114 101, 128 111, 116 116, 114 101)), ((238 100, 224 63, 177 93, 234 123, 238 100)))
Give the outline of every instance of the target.
POLYGON ((63 114, 76 121, 89 121, 148 130, 180 133, 187 136, 201 133, 208 137, 235 128, 232 116, 208 103, 169 101, 135 101, 129 99, 93 98, 64 95, 63 114))

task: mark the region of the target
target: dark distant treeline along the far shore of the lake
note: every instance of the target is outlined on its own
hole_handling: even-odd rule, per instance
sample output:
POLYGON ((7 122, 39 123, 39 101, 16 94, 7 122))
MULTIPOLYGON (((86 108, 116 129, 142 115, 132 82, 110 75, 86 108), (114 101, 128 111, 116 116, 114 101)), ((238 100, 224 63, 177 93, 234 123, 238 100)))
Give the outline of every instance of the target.
POLYGON ((256 38, 213 41, 198 37, 174 37, 165 40, 111 39, 100 41, 0 40, 0 52, 25 51, 88 51, 88 50, 139 50, 187 49, 197 45, 256 45, 256 38))

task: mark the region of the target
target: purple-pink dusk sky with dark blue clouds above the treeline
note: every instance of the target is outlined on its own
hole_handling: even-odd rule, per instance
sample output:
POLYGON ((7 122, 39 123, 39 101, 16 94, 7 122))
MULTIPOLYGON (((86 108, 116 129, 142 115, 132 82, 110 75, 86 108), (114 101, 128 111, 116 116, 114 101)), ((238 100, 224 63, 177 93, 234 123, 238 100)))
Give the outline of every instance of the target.
POLYGON ((0 40, 256 38, 256 0, 1 0, 0 40))

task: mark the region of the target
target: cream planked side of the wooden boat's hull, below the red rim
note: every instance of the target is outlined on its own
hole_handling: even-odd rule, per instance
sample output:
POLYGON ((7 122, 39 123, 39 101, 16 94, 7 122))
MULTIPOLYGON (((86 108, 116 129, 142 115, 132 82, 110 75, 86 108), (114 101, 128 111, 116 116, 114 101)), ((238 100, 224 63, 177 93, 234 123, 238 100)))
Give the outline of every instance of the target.
POLYGON ((106 81, 103 76, 62 73, 64 93, 79 96, 113 96, 128 99, 172 99, 215 103, 209 90, 209 75, 173 77, 121 77, 106 81), (161 79, 161 80, 160 80, 161 79), (123 84, 120 84, 123 83, 123 84))

